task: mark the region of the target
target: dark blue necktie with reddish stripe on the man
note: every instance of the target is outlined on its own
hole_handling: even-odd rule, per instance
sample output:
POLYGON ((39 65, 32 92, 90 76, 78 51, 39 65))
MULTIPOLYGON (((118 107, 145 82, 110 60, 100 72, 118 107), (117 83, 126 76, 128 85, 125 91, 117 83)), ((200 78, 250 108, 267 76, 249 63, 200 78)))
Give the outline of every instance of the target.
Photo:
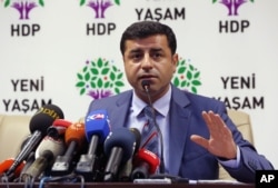
POLYGON ((152 108, 150 106, 146 106, 143 108, 143 115, 147 119, 147 122, 143 125, 141 132, 141 147, 156 154, 159 157, 158 152, 158 140, 159 135, 156 127, 156 121, 153 119, 155 111, 152 112, 152 108))

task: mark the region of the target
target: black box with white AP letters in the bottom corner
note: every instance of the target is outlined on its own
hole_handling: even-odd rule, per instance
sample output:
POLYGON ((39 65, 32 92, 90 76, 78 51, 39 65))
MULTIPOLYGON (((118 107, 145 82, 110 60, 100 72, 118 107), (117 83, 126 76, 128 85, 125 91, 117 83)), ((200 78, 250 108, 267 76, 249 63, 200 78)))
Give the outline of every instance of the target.
POLYGON ((257 170, 256 188, 278 187, 278 170, 257 170))

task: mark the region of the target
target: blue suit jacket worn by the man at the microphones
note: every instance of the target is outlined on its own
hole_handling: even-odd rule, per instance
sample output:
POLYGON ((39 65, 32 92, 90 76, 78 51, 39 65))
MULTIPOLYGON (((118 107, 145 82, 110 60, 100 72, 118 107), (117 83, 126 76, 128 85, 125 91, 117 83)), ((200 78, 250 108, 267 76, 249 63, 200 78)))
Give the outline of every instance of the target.
MULTIPOLYGON (((106 109, 112 130, 125 127, 128 120, 132 91, 95 100, 89 111, 106 109)), ((169 174, 189 179, 217 179, 218 160, 202 147, 190 140, 191 135, 200 135, 209 138, 209 131, 201 111, 212 110, 221 116, 230 128, 234 139, 241 151, 240 165, 237 169, 226 168, 229 174, 239 181, 255 182, 255 170, 272 169, 271 164, 261 155, 258 155, 250 142, 245 140, 227 115, 222 102, 193 95, 172 86, 170 101, 170 167, 169 174)), ((88 112, 89 112, 88 111, 88 112)))

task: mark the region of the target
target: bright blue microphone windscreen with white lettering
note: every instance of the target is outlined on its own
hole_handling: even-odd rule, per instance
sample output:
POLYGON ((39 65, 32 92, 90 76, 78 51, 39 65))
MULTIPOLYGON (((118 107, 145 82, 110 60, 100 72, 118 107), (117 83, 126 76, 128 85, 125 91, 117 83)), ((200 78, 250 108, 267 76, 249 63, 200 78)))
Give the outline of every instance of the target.
POLYGON ((103 142, 110 132, 108 113, 106 110, 95 110, 88 113, 85 120, 86 138, 90 142, 91 137, 97 135, 99 141, 103 142))

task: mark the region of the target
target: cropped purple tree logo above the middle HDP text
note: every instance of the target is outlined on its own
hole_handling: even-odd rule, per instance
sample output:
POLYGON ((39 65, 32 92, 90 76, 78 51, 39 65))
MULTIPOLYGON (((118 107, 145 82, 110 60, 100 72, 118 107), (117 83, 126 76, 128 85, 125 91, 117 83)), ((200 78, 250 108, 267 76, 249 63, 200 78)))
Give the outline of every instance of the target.
POLYGON ((86 0, 80 0, 80 6, 86 4, 91 8, 96 13, 95 18, 106 18, 105 12, 108 8, 113 6, 112 2, 115 2, 117 6, 120 6, 120 0, 89 0, 88 3, 86 3, 86 0))

